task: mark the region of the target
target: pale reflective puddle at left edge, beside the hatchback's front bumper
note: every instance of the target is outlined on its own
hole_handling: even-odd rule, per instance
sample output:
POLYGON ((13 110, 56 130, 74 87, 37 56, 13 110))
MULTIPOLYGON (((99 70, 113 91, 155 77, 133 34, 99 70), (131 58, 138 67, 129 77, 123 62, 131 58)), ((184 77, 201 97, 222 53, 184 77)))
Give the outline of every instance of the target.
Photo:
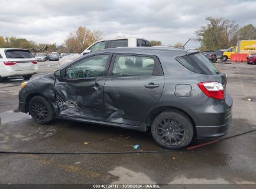
POLYGON ((32 119, 29 114, 17 112, 14 110, 0 113, 0 124, 4 124, 11 121, 19 121, 22 119, 32 119))

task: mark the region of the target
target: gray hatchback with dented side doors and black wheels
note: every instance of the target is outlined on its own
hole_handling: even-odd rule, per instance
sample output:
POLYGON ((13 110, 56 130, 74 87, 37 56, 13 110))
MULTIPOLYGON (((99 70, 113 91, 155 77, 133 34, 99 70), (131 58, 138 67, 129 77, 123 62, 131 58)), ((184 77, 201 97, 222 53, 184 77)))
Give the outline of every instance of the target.
POLYGON ((110 48, 22 83, 19 110, 39 124, 59 118, 150 129, 159 145, 181 149, 193 137, 227 134, 226 85, 227 76, 196 50, 110 48))

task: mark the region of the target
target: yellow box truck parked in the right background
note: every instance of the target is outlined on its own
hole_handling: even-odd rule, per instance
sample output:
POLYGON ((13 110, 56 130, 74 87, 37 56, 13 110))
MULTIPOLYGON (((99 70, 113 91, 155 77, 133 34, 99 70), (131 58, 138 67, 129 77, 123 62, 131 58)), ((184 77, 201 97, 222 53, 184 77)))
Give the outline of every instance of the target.
POLYGON ((256 53, 256 40, 239 40, 236 47, 229 47, 223 53, 223 60, 227 61, 235 53, 256 53))

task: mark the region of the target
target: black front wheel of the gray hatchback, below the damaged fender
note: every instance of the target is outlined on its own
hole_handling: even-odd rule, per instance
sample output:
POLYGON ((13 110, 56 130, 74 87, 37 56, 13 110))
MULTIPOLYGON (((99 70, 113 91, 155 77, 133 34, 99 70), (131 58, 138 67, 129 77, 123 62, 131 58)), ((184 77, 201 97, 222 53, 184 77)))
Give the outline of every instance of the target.
POLYGON ((42 96, 34 96, 29 101, 29 114, 39 124, 48 124, 54 119, 54 110, 42 96))

